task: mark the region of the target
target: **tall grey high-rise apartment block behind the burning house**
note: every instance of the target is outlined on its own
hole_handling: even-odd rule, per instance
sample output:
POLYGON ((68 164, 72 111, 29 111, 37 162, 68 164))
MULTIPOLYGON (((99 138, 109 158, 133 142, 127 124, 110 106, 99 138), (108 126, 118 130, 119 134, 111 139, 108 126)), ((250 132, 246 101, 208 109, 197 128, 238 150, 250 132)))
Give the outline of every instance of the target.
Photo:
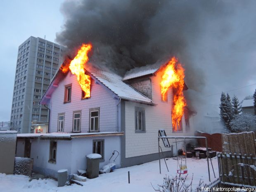
POLYGON ((64 47, 30 37, 19 46, 10 128, 30 133, 32 121, 48 121, 48 109, 39 101, 62 63, 64 47))

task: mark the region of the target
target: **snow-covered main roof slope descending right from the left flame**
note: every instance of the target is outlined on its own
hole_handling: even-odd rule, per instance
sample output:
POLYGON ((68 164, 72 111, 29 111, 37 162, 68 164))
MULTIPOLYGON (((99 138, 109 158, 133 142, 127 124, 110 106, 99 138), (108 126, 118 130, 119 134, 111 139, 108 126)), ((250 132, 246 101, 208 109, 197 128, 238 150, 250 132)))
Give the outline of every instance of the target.
POLYGON ((111 71, 98 69, 93 66, 88 67, 87 71, 121 99, 154 104, 151 99, 142 95, 127 83, 124 83, 121 76, 111 71))

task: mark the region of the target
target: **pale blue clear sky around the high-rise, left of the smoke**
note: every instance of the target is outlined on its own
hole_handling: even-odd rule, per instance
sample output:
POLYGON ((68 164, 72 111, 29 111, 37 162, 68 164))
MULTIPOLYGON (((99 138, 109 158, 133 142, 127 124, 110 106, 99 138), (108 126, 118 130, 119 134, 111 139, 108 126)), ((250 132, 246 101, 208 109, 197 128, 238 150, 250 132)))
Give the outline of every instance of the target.
POLYGON ((64 17, 64 0, 3 0, 0 11, 0 122, 9 121, 18 46, 28 37, 55 42, 64 17))

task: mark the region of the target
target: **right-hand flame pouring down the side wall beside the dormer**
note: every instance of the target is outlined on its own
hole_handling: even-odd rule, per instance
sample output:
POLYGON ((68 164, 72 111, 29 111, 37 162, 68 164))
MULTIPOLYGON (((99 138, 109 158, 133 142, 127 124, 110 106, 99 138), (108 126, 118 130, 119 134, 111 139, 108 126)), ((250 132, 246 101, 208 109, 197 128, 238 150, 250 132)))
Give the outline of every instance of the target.
POLYGON ((185 73, 183 67, 175 57, 171 58, 163 70, 164 73, 160 83, 161 96, 166 101, 165 94, 171 86, 173 87, 172 123, 173 130, 176 131, 178 130, 177 126, 180 126, 180 120, 184 114, 184 107, 187 105, 183 95, 185 73))

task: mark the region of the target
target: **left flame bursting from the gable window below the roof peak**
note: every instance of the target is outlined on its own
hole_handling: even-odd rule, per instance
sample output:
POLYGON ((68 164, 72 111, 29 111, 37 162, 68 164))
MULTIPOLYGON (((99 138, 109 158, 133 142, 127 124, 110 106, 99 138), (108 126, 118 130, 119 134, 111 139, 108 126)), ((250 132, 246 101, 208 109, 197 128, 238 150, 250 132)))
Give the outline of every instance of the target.
POLYGON ((83 44, 69 65, 71 73, 77 76, 77 81, 84 92, 84 98, 90 97, 91 79, 90 76, 85 75, 84 64, 88 62, 88 52, 91 49, 91 44, 83 44))

